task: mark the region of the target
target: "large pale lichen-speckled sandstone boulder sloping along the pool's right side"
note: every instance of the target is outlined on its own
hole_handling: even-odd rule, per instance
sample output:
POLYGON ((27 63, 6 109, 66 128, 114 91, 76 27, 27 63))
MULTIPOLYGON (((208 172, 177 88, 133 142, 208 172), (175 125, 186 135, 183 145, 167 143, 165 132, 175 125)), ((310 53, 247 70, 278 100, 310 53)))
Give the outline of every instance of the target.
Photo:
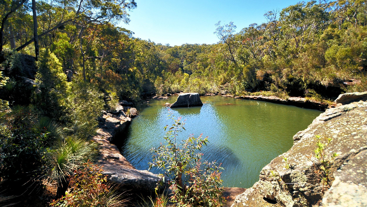
POLYGON ((367 102, 327 109, 298 132, 294 142, 261 170, 259 181, 232 206, 367 206, 367 102), (315 135, 322 143, 332 139, 324 151, 326 160, 338 154, 329 167, 331 188, 322 184, 325 176, 315 173, 321 166, 315 158, 315 135))

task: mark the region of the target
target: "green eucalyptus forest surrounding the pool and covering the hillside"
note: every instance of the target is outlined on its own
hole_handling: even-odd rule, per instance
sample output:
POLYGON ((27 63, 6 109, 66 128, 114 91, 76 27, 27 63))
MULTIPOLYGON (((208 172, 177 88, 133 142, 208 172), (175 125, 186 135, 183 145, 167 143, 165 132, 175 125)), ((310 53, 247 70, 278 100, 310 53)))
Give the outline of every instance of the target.
MULTIPOLYGON (((197 92, 330 102, 367 90, 365 1, 300 2, 242 29, 213 23, 218 43, 181 46, 117 27, 136 7, 134 0, 1 1, 0 205, 26 206, 47 185, 56 197, 37 202, 65 195, 75 170, 93 168, 84 165, 96 153, 88 137, 101 111, 120 100, 197 92)), ((103 178, 88 178, 85 188, 108 194, 103 178)))

